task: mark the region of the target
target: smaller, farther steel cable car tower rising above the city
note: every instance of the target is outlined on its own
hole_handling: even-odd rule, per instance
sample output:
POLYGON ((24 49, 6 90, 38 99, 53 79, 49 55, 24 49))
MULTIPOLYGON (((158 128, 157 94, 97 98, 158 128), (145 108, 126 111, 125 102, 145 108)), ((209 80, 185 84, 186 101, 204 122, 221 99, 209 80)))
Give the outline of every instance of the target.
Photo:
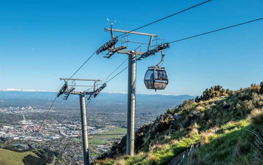
POLYGON ((61 87, 60 91, 57 94, 57 97, 60 95, 63 96, 64 100, 67 100, 70 94, 79 95, 79 103, 80 103, 80 115, 81 115, 81 131, 82 131, 82 146, 83 146, 83 159, 84 165, 89 165, 89 147, 88 147, 88 132, 87 132, 87 119, 86 119, 86 103, 85 96, 87 96, 87 100, 96 97, 103 88, 106 87, 106 83, 102 84, 99 79, 68 79, 68 78, 60 78, 60 80, 64 80, 65 84, 61 87), (68 81, 71 80, 71 85, 68 85, 68 81), (85 81, 92 82, 92 86, 86 85, 76 85, 76 81, 85 81), (70 86, 70 88, 69 88, 70 86), (84 91, 74 91, 76 86, 79 87, 90 87, 88 90, 84 91), (99 87, 98 87, 99 86, 99 87))

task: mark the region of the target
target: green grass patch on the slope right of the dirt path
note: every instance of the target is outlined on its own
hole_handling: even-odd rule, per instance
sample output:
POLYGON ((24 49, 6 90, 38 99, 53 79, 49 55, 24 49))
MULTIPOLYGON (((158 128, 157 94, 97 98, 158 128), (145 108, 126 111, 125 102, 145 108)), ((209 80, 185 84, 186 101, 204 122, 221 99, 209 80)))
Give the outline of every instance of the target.
POLYGON ((192 162, 230 164, 239 154, 251 159, 254 152, 251 145, 253 135, 247 132, 251 129, 253 125, 248 119, 223 125, 218 134, 209 136, 209 143, 202 145, 192 154, 192 162))

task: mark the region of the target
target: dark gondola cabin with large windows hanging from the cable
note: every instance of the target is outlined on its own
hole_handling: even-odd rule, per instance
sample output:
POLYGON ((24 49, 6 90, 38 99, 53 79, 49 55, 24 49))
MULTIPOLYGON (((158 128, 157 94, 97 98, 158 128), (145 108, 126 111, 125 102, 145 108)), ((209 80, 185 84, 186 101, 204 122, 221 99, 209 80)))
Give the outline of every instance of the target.
POLYGON ((167 72, 164 68, 149 68, 144 76, 147 89, 164 90, 168 84, 167 72))

